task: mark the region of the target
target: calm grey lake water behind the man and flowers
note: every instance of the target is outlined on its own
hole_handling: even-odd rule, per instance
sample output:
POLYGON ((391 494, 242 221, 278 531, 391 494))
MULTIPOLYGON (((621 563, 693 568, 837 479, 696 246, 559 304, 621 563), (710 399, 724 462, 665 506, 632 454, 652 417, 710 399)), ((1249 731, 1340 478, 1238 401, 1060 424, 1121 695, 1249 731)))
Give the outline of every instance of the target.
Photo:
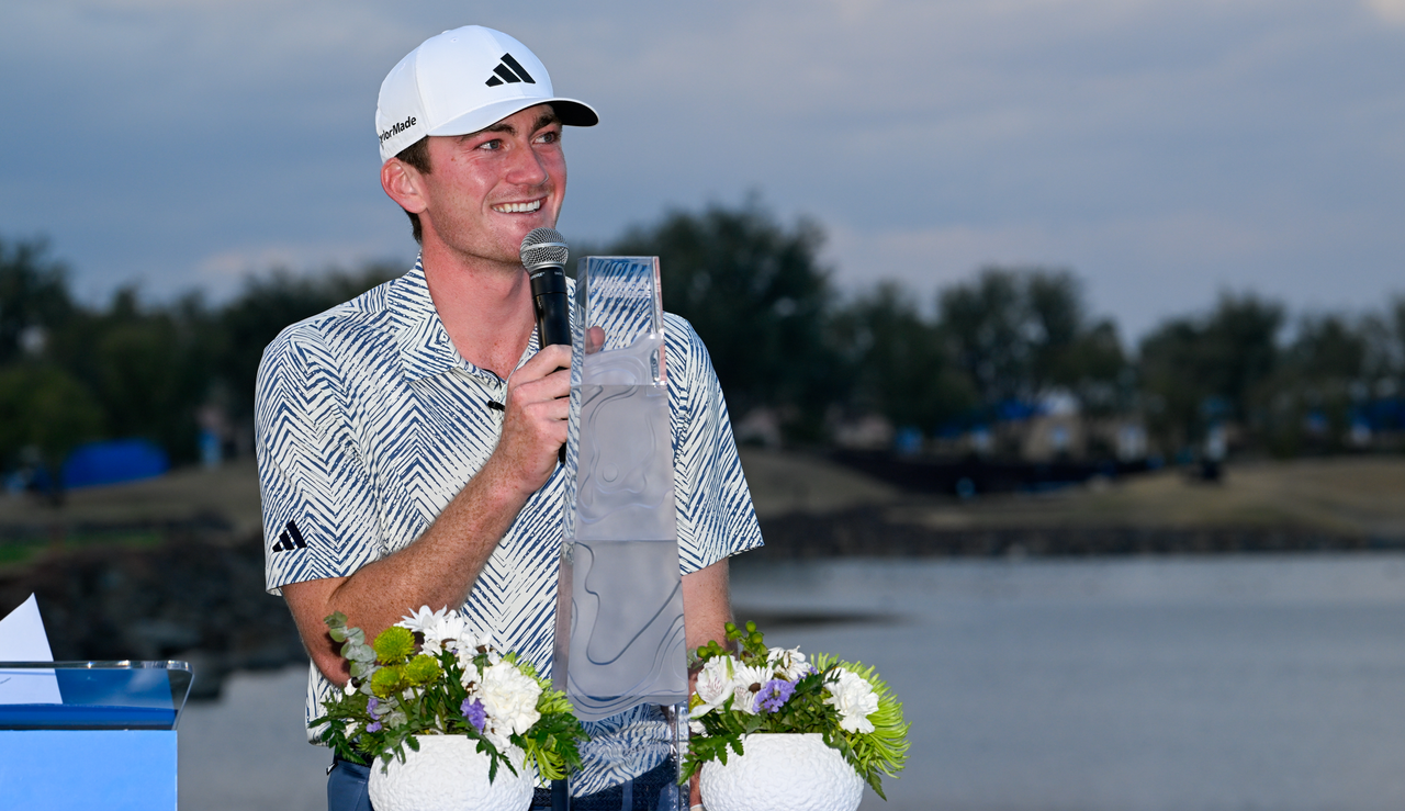
MULTIPOLYGON (((733 571, 767 641, 875 665, 891 811, 1405 807, 1405 555, 823 561, 733 571)), ((181 721, 181 808, 320 810, 305 673, 181 721)))

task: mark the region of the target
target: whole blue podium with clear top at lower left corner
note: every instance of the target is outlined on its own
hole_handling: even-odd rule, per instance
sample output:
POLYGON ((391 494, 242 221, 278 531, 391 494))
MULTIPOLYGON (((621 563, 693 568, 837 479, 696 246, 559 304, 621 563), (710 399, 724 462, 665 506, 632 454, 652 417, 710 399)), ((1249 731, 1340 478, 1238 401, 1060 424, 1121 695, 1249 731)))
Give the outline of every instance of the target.
POLYGON ((0 662, 0 680, 55 680, 63 703, 0 704, 0 805, 174 811, 185 662, 0 662))

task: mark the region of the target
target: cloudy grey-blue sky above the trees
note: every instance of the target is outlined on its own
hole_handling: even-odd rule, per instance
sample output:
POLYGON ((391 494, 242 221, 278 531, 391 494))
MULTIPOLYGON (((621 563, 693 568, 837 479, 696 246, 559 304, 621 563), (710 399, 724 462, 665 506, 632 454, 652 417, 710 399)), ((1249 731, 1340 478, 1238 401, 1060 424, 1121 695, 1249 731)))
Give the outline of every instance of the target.
POLYGON ((573 240, 754 190, 846 291, 1066 267, 1130 339, 1222 290, 1405 294, 1405 0, 6 0, 0 238, 90 301, 409 261, 375 97, 468 22, 601 112, 573 240))

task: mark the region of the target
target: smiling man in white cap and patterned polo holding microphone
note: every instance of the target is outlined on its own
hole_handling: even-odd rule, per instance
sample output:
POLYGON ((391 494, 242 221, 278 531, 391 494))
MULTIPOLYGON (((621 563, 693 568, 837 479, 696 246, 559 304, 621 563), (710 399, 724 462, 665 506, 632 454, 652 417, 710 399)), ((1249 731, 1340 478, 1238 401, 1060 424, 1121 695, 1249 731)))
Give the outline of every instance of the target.
MULTIPOLYGON (((479 27, 427 39, 377 108, 381 186, 410 216, 402 278, 284 330, 259 370, 267 586, 312 658, 308 720, 347 670, 323 618, 374 637, 461 609, 551 672, 570 351, 538 350, 523 238, 566 191, 562 126, 594 110, 554 96, 520 42, 479 27)), ((667 358, 687 642, 724 640, 726 558, 760 545, 707 351, 669 316, 667 358)), ((337 762, 333 808, 367 770, 337 762)), ((365 805, 361 805, 365 807, 365 805)))

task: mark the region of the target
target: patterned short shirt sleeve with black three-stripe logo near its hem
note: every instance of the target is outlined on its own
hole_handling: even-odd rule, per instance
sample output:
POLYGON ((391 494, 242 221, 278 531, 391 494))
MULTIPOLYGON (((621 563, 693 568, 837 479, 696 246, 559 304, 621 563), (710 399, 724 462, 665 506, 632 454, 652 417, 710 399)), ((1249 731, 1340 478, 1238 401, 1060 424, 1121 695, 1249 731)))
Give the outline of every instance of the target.
POLYGON ((381 555, 371 478, 336 365, 308 326, 264 351, 254 395, 264 585, 347 576, 381 555))

